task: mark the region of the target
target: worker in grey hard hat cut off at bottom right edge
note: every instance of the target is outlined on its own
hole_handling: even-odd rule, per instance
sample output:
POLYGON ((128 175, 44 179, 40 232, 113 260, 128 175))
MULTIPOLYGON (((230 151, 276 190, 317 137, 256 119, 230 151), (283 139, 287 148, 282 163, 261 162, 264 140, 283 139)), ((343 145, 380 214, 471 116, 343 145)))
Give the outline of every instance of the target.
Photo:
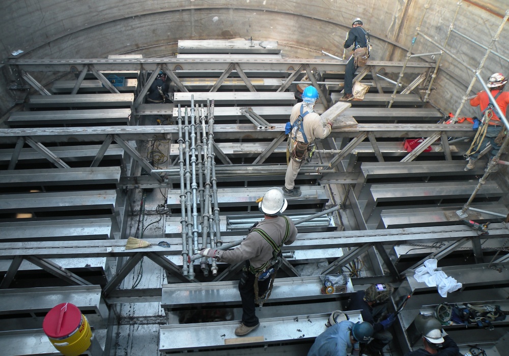
POLYGON ((405 356, 461 356, 456 342, 442 330, 442 324, 431 315, 417 315, 415 327, 422 335, 424 348, 410 351, 405 356))

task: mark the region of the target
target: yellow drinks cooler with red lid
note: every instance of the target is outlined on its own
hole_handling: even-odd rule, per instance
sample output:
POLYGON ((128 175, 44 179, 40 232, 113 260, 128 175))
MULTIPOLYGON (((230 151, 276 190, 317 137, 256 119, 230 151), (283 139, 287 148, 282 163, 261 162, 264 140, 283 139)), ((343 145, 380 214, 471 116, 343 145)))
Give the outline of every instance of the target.
POLYGON ((44 317, 42 329, 53 346, 65 356, 78 356, 90 347, 92 330, 78 307, 62 303, 44 317))

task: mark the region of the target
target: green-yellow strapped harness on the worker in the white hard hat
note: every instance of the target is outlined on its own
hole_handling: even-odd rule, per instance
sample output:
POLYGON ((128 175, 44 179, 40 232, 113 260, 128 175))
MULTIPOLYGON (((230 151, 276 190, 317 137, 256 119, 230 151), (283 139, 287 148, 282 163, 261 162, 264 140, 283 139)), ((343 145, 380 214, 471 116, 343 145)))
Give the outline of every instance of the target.
POLYGON ((270 292, 272 291, 272 286, 274 285, 274 279, 276 278, 276 272, 281 266, 282 259, 281 259, 281 247, 287 241, 287 239, 290 236, 290 222, 288 221, 288 217, 281 216, 285 219, 286 223, 286 230, 285 230, 285 237, 281 240, 281 244, 277 245, 274 240, 271 239, 271 237, 262 229, 254 228, 251 230, 251 232, 258 232, 262 238, 265 239, 269 243, 269 245, 272 247, 272 258, 269 259, 267 262, 262 264, 258 268, 253 268, 252 265, 249 266, 249 271, 255 275, 254 278, 254 303, 258 304, 260 308, 262 308, 263 303, 269 299, 270 292), (262 273, 267 271, 268 269, 273 268, 274 273, 270 275, 270 284, 265 293, 262 296, 258 296, 258 279, 262 273))

